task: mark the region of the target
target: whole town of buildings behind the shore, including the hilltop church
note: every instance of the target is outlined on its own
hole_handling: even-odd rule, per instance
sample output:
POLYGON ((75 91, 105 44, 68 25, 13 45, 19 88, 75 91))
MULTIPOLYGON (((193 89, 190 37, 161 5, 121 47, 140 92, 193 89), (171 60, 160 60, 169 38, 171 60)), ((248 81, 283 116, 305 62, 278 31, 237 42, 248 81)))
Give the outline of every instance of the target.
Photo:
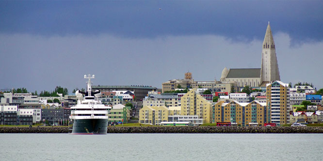
MULTIPOLYGON (((137 122, 149 125, 282 126, 323 123, 323 89, 310 83, 280 80, 275 42, 268 23, 261 46, 261 67, 224 68, 220 80, 184 79, 151 86, 93 86, 109 107, 108 126, 137 122)), ((59 87, 60 88, 60 87, 59 87)), ((25 88, 1 91, 1 125, 68 126, 78 98, 67 89, 54 95, 25 88)))

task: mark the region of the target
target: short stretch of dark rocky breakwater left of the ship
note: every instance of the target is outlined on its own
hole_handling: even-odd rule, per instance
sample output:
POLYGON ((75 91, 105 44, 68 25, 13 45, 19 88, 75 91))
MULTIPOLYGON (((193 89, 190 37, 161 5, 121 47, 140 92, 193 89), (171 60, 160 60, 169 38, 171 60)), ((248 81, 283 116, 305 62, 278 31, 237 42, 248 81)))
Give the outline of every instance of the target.
POLYGON ((1 127, 0 133, 68 133, 67 127, 1 127))

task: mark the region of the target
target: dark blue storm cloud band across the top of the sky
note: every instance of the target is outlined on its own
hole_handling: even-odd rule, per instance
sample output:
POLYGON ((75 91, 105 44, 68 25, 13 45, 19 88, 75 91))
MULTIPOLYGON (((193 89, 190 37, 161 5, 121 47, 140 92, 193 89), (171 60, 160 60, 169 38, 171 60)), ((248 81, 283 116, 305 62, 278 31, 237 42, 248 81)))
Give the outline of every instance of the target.
POLYGON ((323 1, 1 1, 0 32, 262 39, 272 21, 293 42, 323 40, 323 1), (161 10, 159 10, 161 8, 161 10))

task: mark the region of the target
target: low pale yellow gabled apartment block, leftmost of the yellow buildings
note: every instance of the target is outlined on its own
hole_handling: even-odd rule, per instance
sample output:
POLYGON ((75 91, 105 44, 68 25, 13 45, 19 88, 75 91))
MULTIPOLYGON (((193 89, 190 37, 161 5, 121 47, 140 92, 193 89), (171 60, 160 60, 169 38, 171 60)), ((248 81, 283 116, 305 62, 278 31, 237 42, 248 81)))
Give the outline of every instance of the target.
POLYGON ((139 111, 139 123, 160 125, 168 121, 168 111, 166 106, 144 106, 139 111))

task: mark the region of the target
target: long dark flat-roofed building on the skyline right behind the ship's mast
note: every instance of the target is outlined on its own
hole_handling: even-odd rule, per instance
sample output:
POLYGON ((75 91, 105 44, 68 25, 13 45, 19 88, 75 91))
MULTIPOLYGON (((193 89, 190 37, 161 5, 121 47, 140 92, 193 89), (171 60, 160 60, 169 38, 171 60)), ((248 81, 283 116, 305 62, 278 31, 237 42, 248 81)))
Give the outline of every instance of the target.
POLYGON ((92 86, 93 90, 105 91, 115 91, 115 90, 127 90, 133 91, 135 101, 143 100, 149 91, 156 91, 157 88, 151 86, 92 86))

